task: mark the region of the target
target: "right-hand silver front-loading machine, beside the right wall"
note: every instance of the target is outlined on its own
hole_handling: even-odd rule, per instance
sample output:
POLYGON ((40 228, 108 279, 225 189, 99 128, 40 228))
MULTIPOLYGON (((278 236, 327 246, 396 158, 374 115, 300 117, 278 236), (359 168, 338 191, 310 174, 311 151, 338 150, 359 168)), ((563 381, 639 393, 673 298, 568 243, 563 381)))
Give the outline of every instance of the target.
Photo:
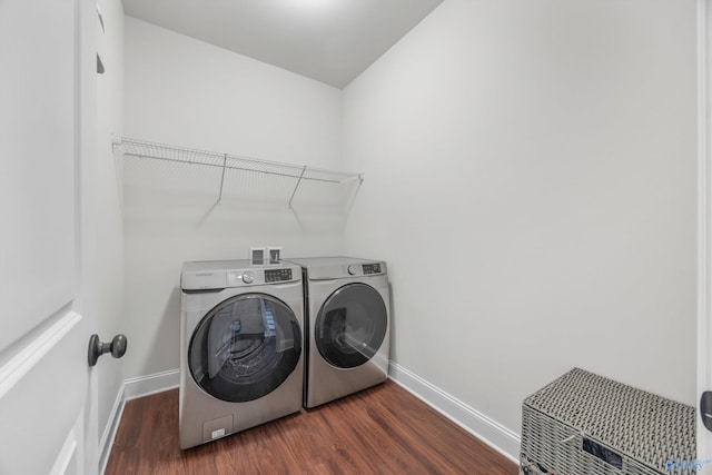
POLYGON ((289 259, 303 268, 306 308, 304 406, 388 377, 390 291, 386 263, 350 257, 289 259))

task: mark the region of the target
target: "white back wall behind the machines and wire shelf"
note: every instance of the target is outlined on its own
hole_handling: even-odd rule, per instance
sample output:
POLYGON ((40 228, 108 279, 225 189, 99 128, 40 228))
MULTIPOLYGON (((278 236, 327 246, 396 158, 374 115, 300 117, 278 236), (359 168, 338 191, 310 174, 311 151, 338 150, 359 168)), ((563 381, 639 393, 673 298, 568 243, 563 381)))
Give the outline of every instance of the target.
MULTIPOLYGON (((129 17, 125 47, 126 137, 340 168, 340 90, 129 17)), ((194 168, 126 164, 127 377, 179 366, 184 261, 247 258, 259 245, 286 257, 343 251, 343 222, 290 209, 291 188, 274 180, 259 191, 277 199, 215 206, 217 184, 194 168)))

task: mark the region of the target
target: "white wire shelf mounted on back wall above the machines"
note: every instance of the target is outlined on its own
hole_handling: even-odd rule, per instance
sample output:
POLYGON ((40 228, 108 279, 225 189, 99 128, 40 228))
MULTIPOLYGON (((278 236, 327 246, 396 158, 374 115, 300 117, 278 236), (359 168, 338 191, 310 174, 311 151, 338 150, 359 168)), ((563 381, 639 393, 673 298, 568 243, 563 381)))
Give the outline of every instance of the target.
POLYGON ((218 202, 230 196, 249 196, 253 199, 269 197, 286 200, 291 207, 299 190, 305 190, 303 194, 308 202, 325 200, 332 204, 336 195, 353 198, 364 180, 362 174, 324 170, 126 137, 117 145, 120 145, 127 167, 142 167, 142 172, 134 174, 137 181, 144 179, 156 185, 158 180, 174 178, 174 181, 182 182, 186 187, 199 187, 202 190, 209 187, 216 192, 218 202), (315 186, 322 191, 315 191, 315 186))

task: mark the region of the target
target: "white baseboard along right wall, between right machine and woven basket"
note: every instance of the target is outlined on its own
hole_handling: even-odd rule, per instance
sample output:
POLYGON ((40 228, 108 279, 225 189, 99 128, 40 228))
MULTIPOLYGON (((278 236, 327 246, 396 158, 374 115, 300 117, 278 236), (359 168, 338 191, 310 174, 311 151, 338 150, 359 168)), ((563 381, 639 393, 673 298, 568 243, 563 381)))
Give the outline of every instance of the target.
POLYGON ((433 386, 403 366, 398 366, 396 363, 390 362, 388 374, 390 379, 403 386, 418 399, 515 464, 520 463, 520 445, 522 438, 516 433, 433 386))

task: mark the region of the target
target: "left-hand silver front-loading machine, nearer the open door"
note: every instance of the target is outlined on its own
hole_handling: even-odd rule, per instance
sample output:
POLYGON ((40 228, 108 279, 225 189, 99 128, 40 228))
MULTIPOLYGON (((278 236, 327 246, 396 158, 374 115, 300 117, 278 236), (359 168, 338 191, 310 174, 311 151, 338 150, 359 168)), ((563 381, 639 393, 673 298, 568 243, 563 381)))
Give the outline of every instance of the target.
POLYGON ((181 448, 301 409, 301 268, 287 263, 184 265, 181 448))

